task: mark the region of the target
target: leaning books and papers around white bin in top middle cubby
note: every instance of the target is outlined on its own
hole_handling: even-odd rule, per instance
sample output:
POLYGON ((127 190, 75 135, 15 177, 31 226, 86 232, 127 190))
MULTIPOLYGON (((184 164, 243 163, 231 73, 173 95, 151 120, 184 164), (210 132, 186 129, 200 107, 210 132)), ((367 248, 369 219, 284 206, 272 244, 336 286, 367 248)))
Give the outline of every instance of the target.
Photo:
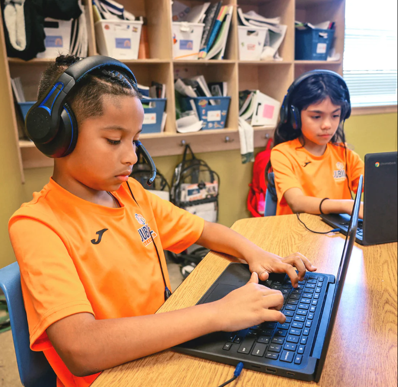
POLYGON ((204 23, 199 59, 223 59, 232 20, 232 5, 205 2, 189 8, 173 2, 173 21, 204 23))

